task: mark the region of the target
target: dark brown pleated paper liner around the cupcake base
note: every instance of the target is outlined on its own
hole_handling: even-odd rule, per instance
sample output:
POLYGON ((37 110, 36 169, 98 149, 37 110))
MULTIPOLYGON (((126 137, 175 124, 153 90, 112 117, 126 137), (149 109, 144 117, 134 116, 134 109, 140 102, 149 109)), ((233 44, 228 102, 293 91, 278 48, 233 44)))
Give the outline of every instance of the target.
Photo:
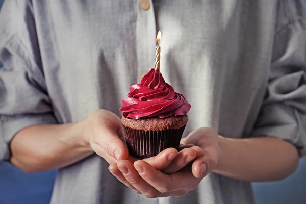
POLYGON ((140 131, 123 125, 129 154, 149 158, 170 147, 179 149, 185 126, 174 130, 140 131))

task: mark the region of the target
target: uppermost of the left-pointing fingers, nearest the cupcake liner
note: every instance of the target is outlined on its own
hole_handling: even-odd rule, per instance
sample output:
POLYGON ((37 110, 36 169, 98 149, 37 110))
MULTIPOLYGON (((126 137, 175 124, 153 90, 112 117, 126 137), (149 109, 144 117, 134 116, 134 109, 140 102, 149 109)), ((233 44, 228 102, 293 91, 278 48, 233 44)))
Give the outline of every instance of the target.
POLYGON ((178 171, 167 175, 141 160, 136 161, 134 167, 144 181, 161 193, 192 190, 200 182, 200 179, 194 177, 190 170, 178 171))

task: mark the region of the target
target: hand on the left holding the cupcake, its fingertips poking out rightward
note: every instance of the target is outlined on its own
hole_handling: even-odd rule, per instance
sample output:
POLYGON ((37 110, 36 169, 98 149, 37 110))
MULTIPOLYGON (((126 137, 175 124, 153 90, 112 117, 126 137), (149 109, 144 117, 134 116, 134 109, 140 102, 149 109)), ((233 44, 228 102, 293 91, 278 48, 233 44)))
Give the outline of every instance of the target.
MULTIPOLYGON (((130 160, 134 163, 139 158, 129 156, 125 145, 121 119, 114 113, 99 109, 89 114, 85 121, 84 136, 97 155, 104 158, 109 164, 120 160, 130 160)), ((175 148, 168 148, 155 157, 144 159, 152 167, 162 170, 177 156, 175 148)), ((195 155, 192 149, 184 151, 185 157, 195 155)))

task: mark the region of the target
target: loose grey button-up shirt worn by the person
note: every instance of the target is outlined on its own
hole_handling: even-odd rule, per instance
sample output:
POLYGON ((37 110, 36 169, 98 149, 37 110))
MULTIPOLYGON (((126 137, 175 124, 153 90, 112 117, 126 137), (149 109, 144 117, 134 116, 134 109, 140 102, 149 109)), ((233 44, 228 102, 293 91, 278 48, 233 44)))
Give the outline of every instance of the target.
MULTIPOLYGON (((184 136, 210 126, 232 138, 274 136, 304 155, 306 21, 297 0, 5 1, 0 13, 0 159, 23 127, 118 115, 154 66, 191 104, 184 136)), ((42 136, 43 137, 43 136, 42 136)), ((101 136, 103 137, 103 136, 101 136)), ((253 203, 248 182, 211 173, 181 198, 147 199, 93 155, 60 169, 52 203, 253 203)))

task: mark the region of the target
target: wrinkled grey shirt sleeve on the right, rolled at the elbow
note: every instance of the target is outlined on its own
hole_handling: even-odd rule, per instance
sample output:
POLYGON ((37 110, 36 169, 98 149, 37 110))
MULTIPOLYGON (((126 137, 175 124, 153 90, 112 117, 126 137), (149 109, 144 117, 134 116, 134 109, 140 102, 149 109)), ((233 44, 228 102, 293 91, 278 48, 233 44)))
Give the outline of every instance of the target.
POLYGON ((306 19, 301 1, 279 1, 267 93, 252 135, 289 141, 306 155, 306 19))

